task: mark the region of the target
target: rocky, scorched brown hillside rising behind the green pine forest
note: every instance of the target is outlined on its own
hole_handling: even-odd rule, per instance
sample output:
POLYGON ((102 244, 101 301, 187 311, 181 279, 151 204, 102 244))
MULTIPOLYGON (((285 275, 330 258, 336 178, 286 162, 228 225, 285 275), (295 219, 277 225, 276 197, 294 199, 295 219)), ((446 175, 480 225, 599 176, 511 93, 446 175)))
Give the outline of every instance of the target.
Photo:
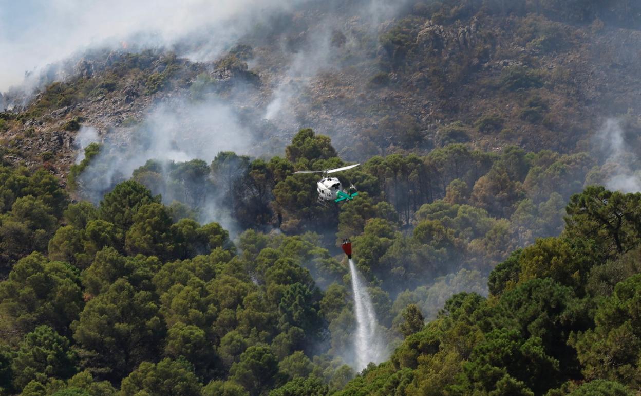
POLYGON ((641 24, 617 6, 577 16, 545 1, 488 4, 415 3, 375 23, 356 4, 306 4, 211 62, 179 49, 94 50, 0 114, 3 156, 63 178, 81 126, 127 144, 162 103, 181 112, 209 101, 269 142, 251 155, 280 152, 303 126, 347 160, 452 142, 587 150, 607 117, 639 130, 641 24))

